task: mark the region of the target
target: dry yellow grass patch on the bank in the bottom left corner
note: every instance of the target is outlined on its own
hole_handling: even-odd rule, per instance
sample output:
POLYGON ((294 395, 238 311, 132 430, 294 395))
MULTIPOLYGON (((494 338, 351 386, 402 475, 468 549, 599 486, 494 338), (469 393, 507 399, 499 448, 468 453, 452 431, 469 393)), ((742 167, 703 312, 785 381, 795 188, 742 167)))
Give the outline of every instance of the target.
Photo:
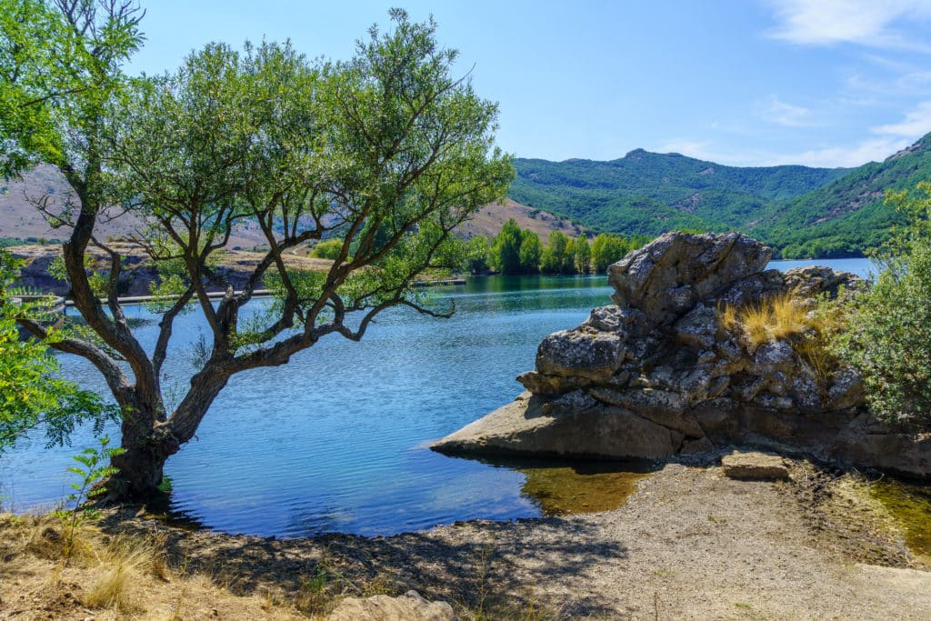
POLYGON ((0 618, 302 618, 286 598, 269 606, 173 567, 159 531, 108 534, 86 523, 75 537, 69 559, 58 518, 0 514, 0 618))

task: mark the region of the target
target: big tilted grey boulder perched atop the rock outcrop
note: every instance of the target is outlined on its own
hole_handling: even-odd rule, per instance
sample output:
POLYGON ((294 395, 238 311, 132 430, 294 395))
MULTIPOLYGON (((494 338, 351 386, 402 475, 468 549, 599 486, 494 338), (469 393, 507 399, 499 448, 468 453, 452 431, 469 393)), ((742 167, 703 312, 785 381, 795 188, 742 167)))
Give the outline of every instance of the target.
POLYGON ((695 303, 736 280, 762 271, 772 251, 739 233, 692 235, 672 232, 608 267, 612 299, 668 324, 695 303))

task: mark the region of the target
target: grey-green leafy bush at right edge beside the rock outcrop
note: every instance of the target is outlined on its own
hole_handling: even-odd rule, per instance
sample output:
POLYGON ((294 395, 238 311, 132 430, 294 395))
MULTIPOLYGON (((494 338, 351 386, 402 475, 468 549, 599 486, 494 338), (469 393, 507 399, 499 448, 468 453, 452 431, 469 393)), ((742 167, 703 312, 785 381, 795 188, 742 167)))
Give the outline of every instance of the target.
POLYGON ((906 221, 876 253, 884 270, 857 296, 837 355, 854 364, 870 407, 893 422, 931 423, 931 183, 886 202, 906 221))

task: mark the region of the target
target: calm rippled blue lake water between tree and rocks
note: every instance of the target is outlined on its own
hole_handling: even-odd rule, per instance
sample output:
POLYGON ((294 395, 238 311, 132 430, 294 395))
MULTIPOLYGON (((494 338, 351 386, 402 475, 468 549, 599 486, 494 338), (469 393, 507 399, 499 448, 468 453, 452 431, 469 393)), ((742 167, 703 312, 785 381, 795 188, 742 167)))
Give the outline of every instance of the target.
MULTIPOLYGON (((863 259, 772 266, 813 263, 870 272, 863 259)), ((435 291, 440 302, 454 302, 452 319, 386 313, 361 343, 333 336, 286 366, 239 374, 197 438, 169 459, 171 510, 226 532, 293 537, 390 534, 573 510, 571 498, 547 503, 560 486, 590 483, 595 495, 614 490, 623 499, 641 476, 623 466, 491 465, 426 448, 517 396, 522 386, 514 377, 533 368, 540 340, 610 304, 610 292, 603 276, 470 278, 435 291)), ((152 346, 152 317, 141 306, 128 315, 152 346)), ((192 314, 179 319, 176 334, 167 371, 182 382, 191 344, 206 331, 192 314)), ((88 365, 61 361, 68 377, 105 393, 88 365)), ((74 448, 47 450, 36 438, 0 458, 3 506, 54 504, 67 493, 70 456, 91 442, 89 432, 79 433, 74 448)))

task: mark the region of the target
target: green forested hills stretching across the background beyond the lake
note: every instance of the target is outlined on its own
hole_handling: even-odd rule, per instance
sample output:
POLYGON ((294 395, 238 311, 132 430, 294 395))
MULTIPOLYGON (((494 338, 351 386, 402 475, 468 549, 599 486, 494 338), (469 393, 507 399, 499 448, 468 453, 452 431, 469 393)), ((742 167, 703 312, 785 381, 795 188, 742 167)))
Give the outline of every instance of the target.
POLYGON ((888 188, 931 180, 931 134, 856 169, 740 168, 637 149, 610 162, 517 159, 510 196, 596 231, 739 230, 790 257, 856 256, 895 221, 888 188))

